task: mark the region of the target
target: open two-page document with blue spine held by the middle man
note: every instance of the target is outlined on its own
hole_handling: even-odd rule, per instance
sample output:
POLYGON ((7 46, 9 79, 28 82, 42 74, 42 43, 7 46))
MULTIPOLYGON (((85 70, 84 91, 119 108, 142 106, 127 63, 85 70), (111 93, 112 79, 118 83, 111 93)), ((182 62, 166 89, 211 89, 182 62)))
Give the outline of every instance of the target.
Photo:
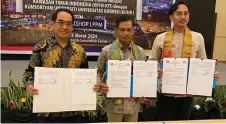
POLYGON ((157 61, 108 61, 107 97, 156 97, 157 61), (131 76, 133 71, 133 76, 131 76))

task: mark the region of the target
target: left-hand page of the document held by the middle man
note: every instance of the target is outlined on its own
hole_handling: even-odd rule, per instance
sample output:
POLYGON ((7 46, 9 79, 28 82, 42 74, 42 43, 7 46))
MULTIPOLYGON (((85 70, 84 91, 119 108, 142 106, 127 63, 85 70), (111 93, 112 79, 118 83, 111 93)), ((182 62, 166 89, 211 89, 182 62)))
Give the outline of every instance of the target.
POLYGON ((130 97, 131 61, 108 60, 107 97, 130 97))

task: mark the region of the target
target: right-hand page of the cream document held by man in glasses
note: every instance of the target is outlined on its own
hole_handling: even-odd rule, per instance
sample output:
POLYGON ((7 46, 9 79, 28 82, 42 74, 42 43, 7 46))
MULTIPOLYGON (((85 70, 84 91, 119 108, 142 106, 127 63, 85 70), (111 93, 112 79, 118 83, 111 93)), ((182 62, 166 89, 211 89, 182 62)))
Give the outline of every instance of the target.
POLYGON ((92 90, 96 83, 96 69, 72 70, 71 108, 76 110, 96 110, 96 93, 92 90))

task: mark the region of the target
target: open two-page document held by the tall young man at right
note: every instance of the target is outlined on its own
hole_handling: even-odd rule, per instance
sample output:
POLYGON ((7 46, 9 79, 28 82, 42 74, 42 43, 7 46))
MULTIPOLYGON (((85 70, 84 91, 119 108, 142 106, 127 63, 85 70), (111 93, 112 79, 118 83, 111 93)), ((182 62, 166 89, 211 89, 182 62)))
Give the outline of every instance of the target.
POLYGON ((215 64, 211 59, 164 58, 162 93, 211 96, 215 64))

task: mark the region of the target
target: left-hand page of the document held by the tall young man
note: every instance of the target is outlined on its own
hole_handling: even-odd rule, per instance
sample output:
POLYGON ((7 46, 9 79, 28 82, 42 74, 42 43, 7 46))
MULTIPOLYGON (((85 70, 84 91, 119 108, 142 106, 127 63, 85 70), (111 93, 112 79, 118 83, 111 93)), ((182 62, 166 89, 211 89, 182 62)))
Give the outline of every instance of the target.
POLYGON ((188 58, 164 58, 162 93, 186 94, 188 58))

